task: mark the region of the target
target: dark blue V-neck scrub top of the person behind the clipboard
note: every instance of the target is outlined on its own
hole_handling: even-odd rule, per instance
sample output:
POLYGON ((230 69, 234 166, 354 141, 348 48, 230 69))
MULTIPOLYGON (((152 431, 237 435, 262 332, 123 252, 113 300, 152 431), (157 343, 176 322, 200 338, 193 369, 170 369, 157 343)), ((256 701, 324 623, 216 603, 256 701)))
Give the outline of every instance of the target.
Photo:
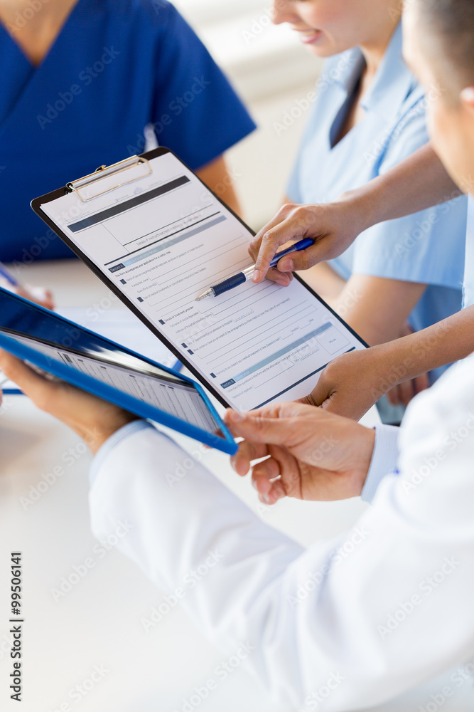
POLYGON ((0 260, 72 256, 31 199, 160 145, 192 169, 254 129, 203 43, 164 0, 79 0, 38 68, 0 24, 0 260))

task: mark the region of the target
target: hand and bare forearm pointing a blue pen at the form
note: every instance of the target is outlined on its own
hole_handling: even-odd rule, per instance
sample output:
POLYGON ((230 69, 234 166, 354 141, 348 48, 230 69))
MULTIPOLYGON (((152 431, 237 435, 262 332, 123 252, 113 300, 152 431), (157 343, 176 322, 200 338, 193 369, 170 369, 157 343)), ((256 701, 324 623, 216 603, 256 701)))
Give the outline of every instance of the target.
POLYGON ((357 235, 373 225, 393 220, 460 194, 436 154, 428 145, 364 186, 343 193, 328 204, 284 205, 254 237, 249 252, 255 259, 254 282, 267 276, 278 248, 302 237, 313 240, 305 250, 278 263, 280 272, 307 270, 341 255, 357 235))

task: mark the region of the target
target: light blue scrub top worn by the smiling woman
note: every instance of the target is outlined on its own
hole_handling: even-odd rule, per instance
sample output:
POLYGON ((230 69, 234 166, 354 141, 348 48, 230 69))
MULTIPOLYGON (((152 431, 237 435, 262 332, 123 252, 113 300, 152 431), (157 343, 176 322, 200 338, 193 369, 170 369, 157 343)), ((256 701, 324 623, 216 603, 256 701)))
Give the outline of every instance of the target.
MULTIPOLYGON (((364 66, 359 48, 325 63, 289 182, 291 201, 332 201, 428 142, 424 93, 403 61, 399 26, 360 101, 365 118, 334 145, 364 66)), ((467 200, 459 197, 373 226, 330 265, 345 279, 359 273, 429 285, 409 318, 415 330, 424 329, 462 306, 466 213, 467 200)), ((442 372, 437 369, 432 379, 442 372)))

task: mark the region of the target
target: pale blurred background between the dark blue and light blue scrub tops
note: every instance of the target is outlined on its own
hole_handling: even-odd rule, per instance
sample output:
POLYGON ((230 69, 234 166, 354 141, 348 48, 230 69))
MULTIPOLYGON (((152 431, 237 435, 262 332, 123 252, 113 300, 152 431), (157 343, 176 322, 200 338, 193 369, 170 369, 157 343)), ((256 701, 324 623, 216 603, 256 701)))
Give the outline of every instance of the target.
POLYGON ((314 88, 321 62, 286 25, 271 23, 269 0, 177 0, 247 104, 258 129, 228 154, 247 222, 258 229, 281 204, 308 111, 296 102, 314 88), (301 114, 277 130, 293 110, 301 114))

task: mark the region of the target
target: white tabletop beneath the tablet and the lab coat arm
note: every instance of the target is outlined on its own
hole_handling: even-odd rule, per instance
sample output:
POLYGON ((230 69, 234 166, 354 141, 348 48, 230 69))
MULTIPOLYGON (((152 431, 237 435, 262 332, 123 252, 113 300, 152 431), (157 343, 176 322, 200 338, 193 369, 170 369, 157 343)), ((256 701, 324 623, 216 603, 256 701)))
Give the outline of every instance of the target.
MULTIPOLYGON (((107 312, 118 300, 82 263, 60 261, 25 268, 23 281, 53 288, 59 307, 107 312)), ((87 472, 91 457, 63 424, 39 412, 25 397, 4 399, 0 411, 0 708, 9 700, 9 557, 23 552, 23 705, 25 712, 181 712, 195 687, 214 677, 222 656, 178 607, 144 632, 163 593, 114 548, 97 548, 90 533, 87 472), (55 466, 58 478, 43 484, 55 466), (66 595, 55 600, 62 577, 92 557, 94 567, 66 595), (92 683, 98 666, 102 677, 92 683), (80 686, 70 696, 76 686, 80 686), (82 686, 82 687, 81 687, 82 686)), ((375 415, 368 423, 374 422, 375 415)), ((185 446, 195 443, 179 438, 185 446)), ((208 451, 205 464, 260 515, 304 545, 350 527, 364 511, 361 501, 259 505, 249 479, 237 478, 227 456, 208 451)), ((430 695, 450 684, 449 674, 431 681, 377 712, 419 712, 430 695)), ((452 683, 451 683, 451 686, 452 683)), ((197 708, 197 707, 196 707, 197 708)), ((258 681, 242 669, 224 680, 198 707, 203 712, 292 712, 266 698, 258 681)), ((474 708, 472 684, 455 691, 443 712, 474 708)), ((193 708, 187 708, 188 712, 193 708)))

